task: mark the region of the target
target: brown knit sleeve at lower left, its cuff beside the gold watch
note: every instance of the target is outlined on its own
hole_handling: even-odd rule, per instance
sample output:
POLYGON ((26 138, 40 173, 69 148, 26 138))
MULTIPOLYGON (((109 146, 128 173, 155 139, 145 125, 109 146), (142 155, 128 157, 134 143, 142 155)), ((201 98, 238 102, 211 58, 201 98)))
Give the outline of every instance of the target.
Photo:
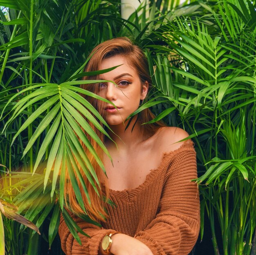
POLYGON ((80 245, 73 235, 70 233, 63 216, 61 215, 58 233, 61 239, 61 248, 66 255, 98 255, 99 245, 104 235, 109 233, 117 233, 112 229, 104 229, 94 224, 87 223, 73 213, 69 212, 76 224, 90 237, 86 237, 79 233, 82 245, 80 245))

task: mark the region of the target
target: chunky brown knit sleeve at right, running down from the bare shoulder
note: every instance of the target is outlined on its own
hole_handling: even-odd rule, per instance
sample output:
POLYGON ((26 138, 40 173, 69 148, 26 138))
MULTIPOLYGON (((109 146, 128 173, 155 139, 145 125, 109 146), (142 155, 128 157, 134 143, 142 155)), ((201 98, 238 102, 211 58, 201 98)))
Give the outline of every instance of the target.
POLYGON ((144 231, 134 236, 154 255, 187 255, 200 230, 200 201, 195 151, 183 150, 171 160, 159 212, 144 231))

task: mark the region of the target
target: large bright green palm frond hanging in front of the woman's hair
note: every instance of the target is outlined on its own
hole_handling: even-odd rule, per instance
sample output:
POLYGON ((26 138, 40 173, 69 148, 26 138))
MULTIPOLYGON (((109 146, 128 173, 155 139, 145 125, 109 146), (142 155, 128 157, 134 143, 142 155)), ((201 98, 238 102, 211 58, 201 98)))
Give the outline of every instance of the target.
MULTIPOLYGON (((89 74, 90 73, 88 73, 88 75, 89 74)), ((81 81, 81 82, 92 83, 92 82, 99 82, 99 81, 81 81)), ((67 157, 66 164, 69 167, 73 166, 74 170, 76 171, 76 174, 80 176, 79 182, 81 182, 84 192, 87 195, 88 201, 90 202, 90 197, 88 197, 87 188, 85 187, 85 183, 81 177, 81 174, 77 169, 75 162, 76 161, 79 162, 79 164, 82 166, 82 169, 85 175, 87 176, 88 180, 90 181, 90 183, 92 184, 92 186, 94 187, 97 193, 98 193, 98 190, 95 187, 93 179, 96 180, 98 185, 99 185, 99 180, 97 178, 97 175, 95 174, 94 169, 92 168, 90 161, 88 160, 87 155, 83 151, 81 145, 79 145, 80 143, 77 140, 76 135, 79 135, 81 137, 81 140, 85 142, 85 145, 88 146, 88 149, 92 152, 92 155, 94 155, 96 161, 98 162, 99 166, 101 166, 103 171, 105 171, 105 168, 101 162, 101 159, 95 152, 94 148, 92 148, 92 145, 88 141, 88 138, 83 133, 80 126, 86 131, 86 133, 88 133, 88 135, 92 136, 92 138, 101 146, 103 151, 109 157, 110 157, 110 154, 106 150, 106 147, 103 144, 103 142, 99 139, 99 137, 96 135, 96 133, 92 130, 90 125, 85 121, 85 119, 81 116, 79 112, 81 112, 88 120, 90 120, 97 127, 97 129, 99 129, 99 131, 104 133, 104 135, 108 137, 110 136, 105 131, 105 129, 103 129, 101 124, 99 124, 98 120, 96 120, 93 117, 90 111, 96 117, 98 117, 99 120, 103 122, 103 124, 105 124, 107 127, 108 127, 108 124, 105 122, 105 120, 103 120, 102 116, 98 113, 98 111, 94 109, 94 107, 87 100, 85 100, 81 95, 78 95, 77 92, 93 96, 94 98, 97 98, 99 100, 101 100, 102 98, 99 97, 98 95, 91 93, 90 91, 86 91, 74 86, 81 82, 70 81, 60 85, 36 84, 34 86, 30 86, 30 90, 29 88, 26 88, 20 91, 19 93, 14 95, 12 98, 10 98, 10 100, 7 103, 7 104, 11 104, 11 102, 15 100, 18 96, 23 95, 22 99, 19 100, 12 107, 13 114, 5 124, 4 130, 7 129, 7 126, 9 126, 13 122, 13 120, 15 120, 19 116, 20 113, 25 111, 27 107, 30 107, 35 103, 38 104, 42 102, 42 104, 39 105, 37 109, 33 113, 31 113, 29 118, 23 123, 19 131, 13 136, 13 142, 20 135, 22 131, 24 131, 29 125, 31 125, 34 122, 34 120, 36 120, 38 117, 42 118, 42 116, 44 115, 42 121, 37 126, 36 130, 34 131, 34 134, 31 136, 31 139, 29 140, 25 150, 23 151, 23 157, 32 148, 32 146, 34 146, 38 138, 43 135, 43 132, 47 130, 47 133, 42 142, 42 146, 38 151, 33 172, 35 173, 46 151, 49 150, 47 166, 45 171, 44 189, 47 186, 49 177, 52 176, 53 179, 52 179, 51 197, 53 197, 54 190, 56 188, 56 184, 58 181, 59 168, 61 166, 61 162, 65 162, 63 160, 63 157, 67 155, 68 157, 67 157), (39 86, 40 88, 38 89, 39 86), (76 92, 74 92, 74 90, 76 92), (27 93, 29 91, 31 91, 31 93, 28 93, 27 95, 24 96, 24 93, 27 93), (45 113, 46 111, 47 113, 45 113), (52 125, 49 126, 51 123, 52 125), (66 151, 65 153, 63 149, 65 149, 66 151), (70 151, 70 149, 72 150, 72 152, 70 151), (54 169, 52 169, 53 167, 54 169), (51 173, 53 174, 51 175, 51 173)), ((104 101, 108 102, 108 100, 104 100, 104 101)), ((65 168, 65 165, 62 165, 62 169, 64 168, 65 168)), ((82 203, 81 193, 79 191, 78 184, 74 178, 74 172, 73 172, 74 170, 69 169, 69 174, 72 177, 72 184, 74 185, 74 189, 76 190, 75 191, 76 195, 79 198, 79 203, 82 206, 82 208, 85 210, 82 203)), ((65 173, 61 173, 60 188, 62 192, 63 192, 64 176, 65 176, 65 173)), ((31 195, 31 193, 28 193, 28 196, 29 195, 31 195)), ((63 195, 61 195, 61 205, 63 206, 63 195)), ((25 205, 21 206, 21 208, 24 208, 24 207, 25 205)))

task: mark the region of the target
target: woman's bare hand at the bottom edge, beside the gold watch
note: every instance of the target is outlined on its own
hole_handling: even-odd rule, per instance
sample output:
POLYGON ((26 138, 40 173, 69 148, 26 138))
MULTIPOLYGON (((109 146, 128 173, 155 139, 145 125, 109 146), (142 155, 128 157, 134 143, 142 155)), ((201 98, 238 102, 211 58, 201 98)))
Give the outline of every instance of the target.
MULTIPOLYGON (((146 244, 129 235, 121 233, 112 236, 110 252, 114 255, 153 255, 146 244)), ((102 254, 104 254, 104 252, 102 254)))

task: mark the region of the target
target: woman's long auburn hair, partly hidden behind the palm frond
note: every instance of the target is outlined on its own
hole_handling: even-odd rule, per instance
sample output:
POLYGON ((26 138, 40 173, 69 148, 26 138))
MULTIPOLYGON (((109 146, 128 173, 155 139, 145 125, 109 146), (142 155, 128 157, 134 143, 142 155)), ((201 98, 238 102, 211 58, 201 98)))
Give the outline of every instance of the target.
MULTIPOLYGON (((143 51, 136 45, 133 45, 132 42, 126 38, 126 37, 120 37, 115 38, 111 40, 107 40, 105 42, 102 42, 98 46, 96 46, 93 51, 90 53, 90 60, 87 63, 85 67, 85 72, 89 71, 97 71, 100 69, 100 64, 105 58, 110 58, 115 55, 122 55, 124 56, 129 64, 137 70, 137 73, 139 75, 139 78, 141 80, 141 85, 145 83, 146 81, 149 84, 149 89, 151 86, 151 77, 149 75, 149 69, 148 69, 148 61, 146 59, 146 56, 144 55, 143 51)), ((99 75, 95 76, 85 76, 83 80, 99 80, 99 75)), ((81 84, 81 88, 86 89, 88 91, 91 91, 95 94, 99 91, 99 85, 92 83, 92 84, 81 84)), ((80 94, 83 96, 92 106, 94 106, 97 111, 100 111, 98 109, 98 100, 86 96, 84 94, 80 94)), ((82 115, 83 116, 83 115, 82 115)), ((149 109, 145 109, 144 111, 141 111, 137 115, 137 122, 139 124, 143 124, 145 122, 148 122, 152 120, 155 116, 149 109)), ((83 116, 85 118, 85 116, 83 116)), ((104 142, 105 135, 101 133, 87 118, 85 120, 88 122, 88 124, 92 127, 94 132, 98 135, 98 137, 101 139, 101 141, 104 142)), ((103 124, 100 122, 100 124, 103 126, 103 124)), ((146 137, 152 136, 159 127, 165 126, 162 122, 155 122, 153 124, 146 124, 141 126, 142 135, 146 137)), ((95 142, 94 139, 86 131, 81 127, 83 132, 88 137, 88 140, 94 147, 96 153, 99 155, 101 159, 103 159, 103 150, 95 142)), ((88 189, 88 193, 90 196, 91 204, 89 204, 85 193, 83 192, 83 187, 81 186, 81 183, 79 182, 78 178, 77 181, 79 183, 79 188, 83 197, 83 202, 85 205, 86 213, 92 220, 96 221, 105 221, 108 217, 108 213, 105 209, 105 204, 109 199, 109 188, 108 188, 108 179, 106 175, 103 173, 101 167, 94 159, 94 156, 92 153, 88 150, 88 148, 85 146, 85 144, 81 141, 79 138, 79 142, 81 143, 86 155, 88 156, 92 166, 94 167, 95 173, 99 179, 100 186, 94 181, 95 186, 97 186, 97 190, 99 195, 96 193, 90 182, 88 181, 87 177, 83 173, 83 170, 81 169, 81 166, 79 166, 79 170, 81 172, 81 175, 83 176, 85 180, 86 187, 88 189)), ((66 201, 69 201, 70 209, 76 213, 76 214, 83 214, 83 210, 79 203, 76 200, 76 195, 74 193, 74 189, 72 188, 72 184, 69 180, 69 175, 67 176, 67 182, 65 182, 65 199, 66 201)))

